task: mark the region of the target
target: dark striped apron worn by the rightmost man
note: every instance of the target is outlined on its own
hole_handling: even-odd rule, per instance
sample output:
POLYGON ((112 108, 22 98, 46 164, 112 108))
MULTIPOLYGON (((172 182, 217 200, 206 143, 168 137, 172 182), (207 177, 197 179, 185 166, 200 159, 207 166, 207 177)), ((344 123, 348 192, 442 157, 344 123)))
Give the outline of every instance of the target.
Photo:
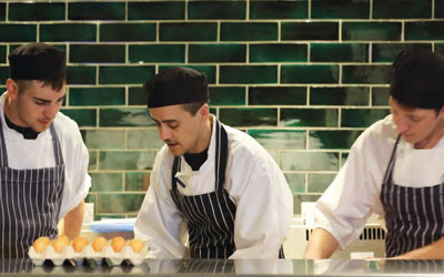
POLYGON ((381 201, 385 212, 386 257, 430 245, 444 235, 444 184, 407 187, 393 184, 398 135, 385 172, 381 201))

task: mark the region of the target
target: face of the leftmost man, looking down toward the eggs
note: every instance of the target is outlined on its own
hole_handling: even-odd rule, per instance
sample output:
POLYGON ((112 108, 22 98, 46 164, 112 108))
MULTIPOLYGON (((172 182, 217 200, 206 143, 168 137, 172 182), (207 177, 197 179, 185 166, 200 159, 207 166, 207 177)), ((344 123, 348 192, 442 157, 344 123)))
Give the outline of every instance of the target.
POLYGON ((22 91, 8 92, 16 103, 10 107, 13 111, 12 119, 9 120, 19 126, 43 132, 60 111, 65 93, 64 84, 60 91, 54 91, 51 85, 43 86, 41 81, 30 81, 22 91))

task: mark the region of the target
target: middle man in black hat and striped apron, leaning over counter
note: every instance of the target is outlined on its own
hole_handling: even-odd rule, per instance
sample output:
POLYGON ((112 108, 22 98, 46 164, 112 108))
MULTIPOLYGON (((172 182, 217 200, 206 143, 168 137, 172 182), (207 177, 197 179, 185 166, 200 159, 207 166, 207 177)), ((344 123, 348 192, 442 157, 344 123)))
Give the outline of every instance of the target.
POLYGON ((165 145, 155 157, 135 234, 151 258, 278 258, 293 198, 271 155, 209 113, 203 73, 171 68, 147 82, 165 145))

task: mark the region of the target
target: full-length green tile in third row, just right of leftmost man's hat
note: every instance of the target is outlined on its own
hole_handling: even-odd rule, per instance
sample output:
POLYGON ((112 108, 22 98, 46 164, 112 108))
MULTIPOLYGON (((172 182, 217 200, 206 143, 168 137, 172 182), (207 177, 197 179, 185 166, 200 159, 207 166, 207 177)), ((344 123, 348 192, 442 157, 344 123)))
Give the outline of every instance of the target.
POLYGON ((125 45, 71 44, 70 62, 74 63, 123 63, 125 45))

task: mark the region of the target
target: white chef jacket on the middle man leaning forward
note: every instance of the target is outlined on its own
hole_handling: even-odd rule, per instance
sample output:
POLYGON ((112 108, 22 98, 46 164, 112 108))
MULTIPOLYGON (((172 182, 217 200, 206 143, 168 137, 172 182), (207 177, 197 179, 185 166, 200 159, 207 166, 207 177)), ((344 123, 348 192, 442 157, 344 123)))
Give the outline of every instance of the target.
MULTIPOLYGON (((213 115, 212 115, 213 116, 213 115)), ((223 125, 229 137, 224 188, 236 205, 234 244, 230 258, 278 258, 279 249, 293 218, 293 196, 285 177, 271 155, 250 135, 223 125)), ((213 124, 208 158, 199 171, 181 156, 176 176, 185 183, 178 186, 183 195, 214 192, 215 124, 213 124)), ((148 239, 150 258, 184 258, 188 256, 183 234, 184 217, 174 204, 171 171, 174 156, 167 145, 158 153, 138 219, 137 237, 148 239)))

